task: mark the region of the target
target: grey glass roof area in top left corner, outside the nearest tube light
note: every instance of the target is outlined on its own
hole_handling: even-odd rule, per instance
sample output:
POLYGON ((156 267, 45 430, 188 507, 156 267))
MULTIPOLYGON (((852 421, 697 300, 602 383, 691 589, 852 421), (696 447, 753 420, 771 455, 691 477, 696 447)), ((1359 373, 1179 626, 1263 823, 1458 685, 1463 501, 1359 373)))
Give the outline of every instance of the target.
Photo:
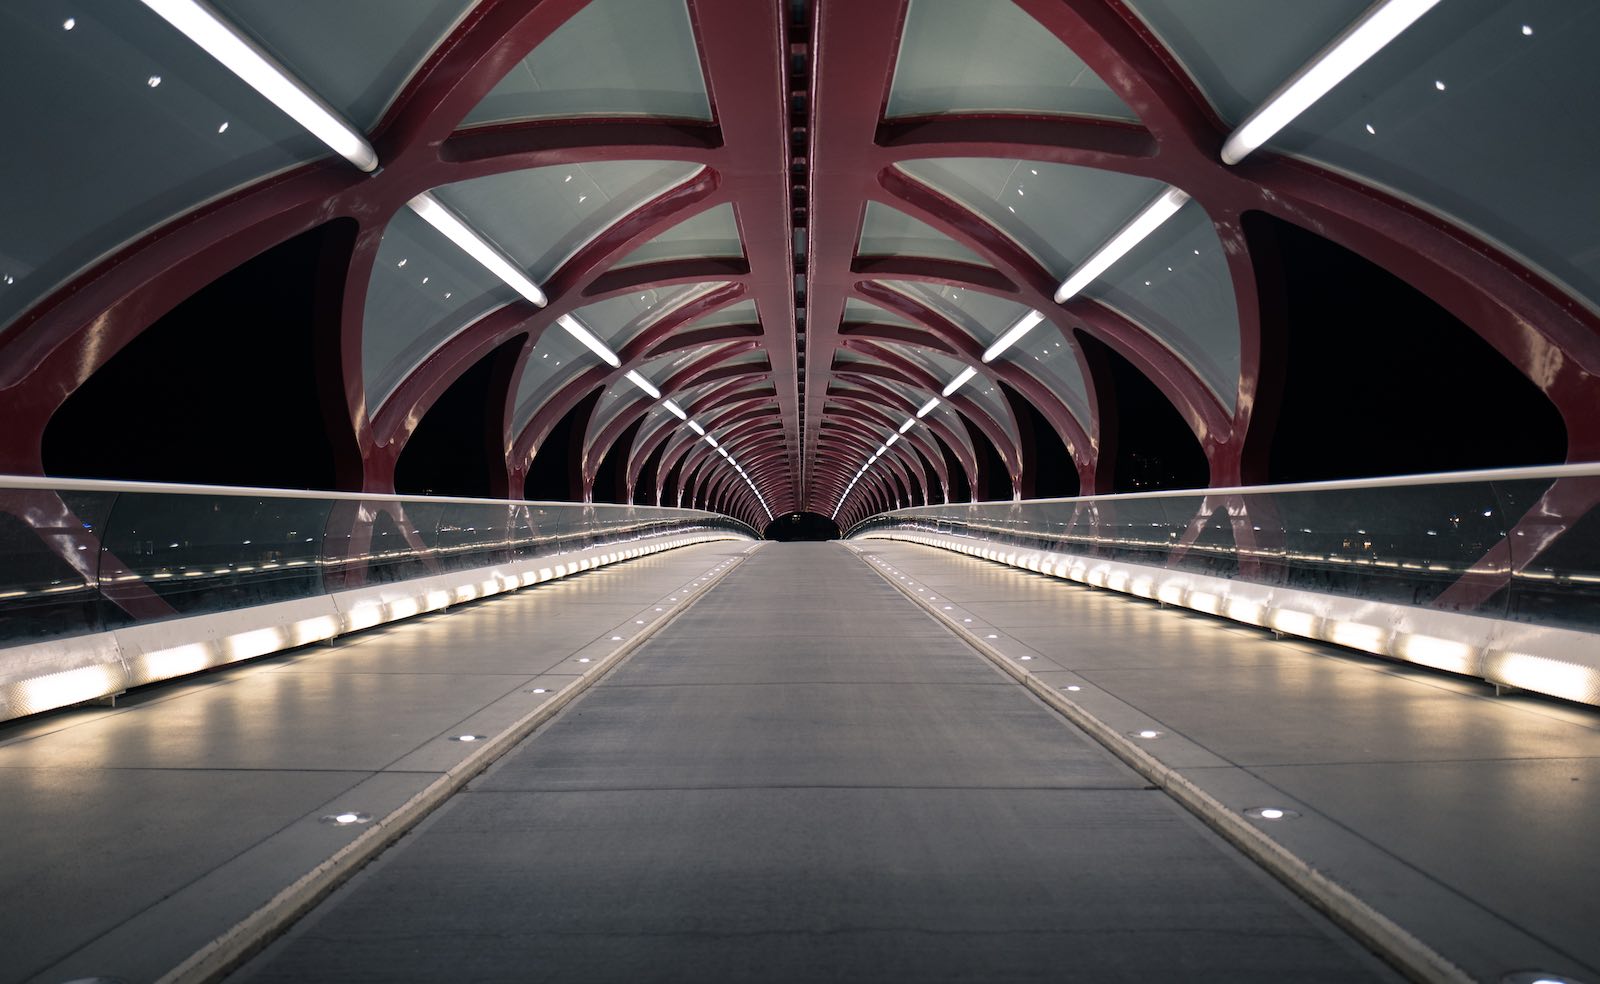
POLYGON ((142 3, 8 0, 0 38, 0 326, 142 232, 326 155, 142 3))

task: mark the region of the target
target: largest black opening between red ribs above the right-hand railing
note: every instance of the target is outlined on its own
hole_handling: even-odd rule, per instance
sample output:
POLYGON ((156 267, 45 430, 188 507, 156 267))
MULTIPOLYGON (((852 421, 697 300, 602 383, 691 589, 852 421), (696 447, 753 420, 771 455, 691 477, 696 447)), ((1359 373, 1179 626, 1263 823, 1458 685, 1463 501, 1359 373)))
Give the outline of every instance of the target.
POLYGON ((1282 269, 1283 395, 1267 482, 1565 461, 1560 411, 1472 328, 1334 242, 1267 214, 1245 219, 1282 269))

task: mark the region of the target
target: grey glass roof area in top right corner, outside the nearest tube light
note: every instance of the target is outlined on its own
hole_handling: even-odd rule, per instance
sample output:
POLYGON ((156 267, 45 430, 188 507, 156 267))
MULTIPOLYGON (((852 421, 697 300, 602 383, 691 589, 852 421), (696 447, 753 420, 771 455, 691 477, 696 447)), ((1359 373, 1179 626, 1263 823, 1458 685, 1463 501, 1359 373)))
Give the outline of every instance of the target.
POLYGON ((1592 3, 1440 3, 1269 147, 1461 222, 1600 309, 1597 45, 1592 3))

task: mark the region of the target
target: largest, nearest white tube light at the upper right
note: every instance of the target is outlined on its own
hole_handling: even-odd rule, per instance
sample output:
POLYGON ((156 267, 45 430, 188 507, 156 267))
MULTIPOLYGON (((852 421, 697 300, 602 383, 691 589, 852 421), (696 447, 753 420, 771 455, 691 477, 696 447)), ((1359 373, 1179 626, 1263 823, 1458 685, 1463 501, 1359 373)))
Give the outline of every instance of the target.
POLYGON ((1434 8, 1438 0, 1386 0, 1368 10, 1331 45, 1322 50, 1288 82, 1278 86, 1256 112, 1227 136, 1222 144, 1222 163, 1238 163, 1251 150, 1272 139, 1272 134, 1288 126, 1290 120, 1328 94, 1328 90, 1344 82, 1384 45, 1395 40, 1434 8))

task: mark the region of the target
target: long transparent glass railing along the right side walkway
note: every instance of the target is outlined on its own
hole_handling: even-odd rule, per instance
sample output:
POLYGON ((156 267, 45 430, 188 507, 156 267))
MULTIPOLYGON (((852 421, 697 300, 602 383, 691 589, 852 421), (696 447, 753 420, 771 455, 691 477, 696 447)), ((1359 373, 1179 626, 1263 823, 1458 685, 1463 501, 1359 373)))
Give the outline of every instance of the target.
POLYGON ((1597 475, 978 502, 890 512, 858 531, 890 526, 1600 629, 1597 475))

